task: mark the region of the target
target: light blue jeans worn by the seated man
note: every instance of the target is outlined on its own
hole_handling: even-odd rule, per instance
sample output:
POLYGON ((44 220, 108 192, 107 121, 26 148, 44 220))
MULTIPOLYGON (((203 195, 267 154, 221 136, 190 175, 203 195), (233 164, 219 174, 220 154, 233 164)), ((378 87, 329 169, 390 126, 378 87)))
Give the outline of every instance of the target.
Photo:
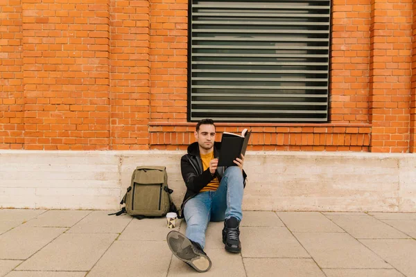
POLYGON ((217 190, 198 193, 184 206, 187 221, 187 238, 205 247, 205 231, 208 222, 223 221, 236 217, 241 221, 241 203, 243 202, 243 172, 238 166, 231 166, 224 172, 217 190))

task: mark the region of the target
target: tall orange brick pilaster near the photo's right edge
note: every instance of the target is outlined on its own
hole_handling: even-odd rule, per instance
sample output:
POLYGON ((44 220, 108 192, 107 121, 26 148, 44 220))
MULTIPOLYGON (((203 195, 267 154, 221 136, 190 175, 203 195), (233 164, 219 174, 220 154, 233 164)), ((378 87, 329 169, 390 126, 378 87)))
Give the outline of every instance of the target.
POLYGON ((409 148, 412 14, 408 0, 372 0, 372 152, 407 152, 409 148))

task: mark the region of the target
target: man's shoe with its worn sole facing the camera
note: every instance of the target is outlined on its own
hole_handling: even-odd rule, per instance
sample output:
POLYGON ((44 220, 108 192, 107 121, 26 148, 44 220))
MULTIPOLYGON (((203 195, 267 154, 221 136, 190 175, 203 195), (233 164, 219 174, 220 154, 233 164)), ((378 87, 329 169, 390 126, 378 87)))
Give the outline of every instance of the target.
POLYGON ((166 240, 173 255, 186 262, 196 271, 205 272, 211 268, 211 260, 198 242, 189 240, 184 234, 177 231, 169 232, 166 240))

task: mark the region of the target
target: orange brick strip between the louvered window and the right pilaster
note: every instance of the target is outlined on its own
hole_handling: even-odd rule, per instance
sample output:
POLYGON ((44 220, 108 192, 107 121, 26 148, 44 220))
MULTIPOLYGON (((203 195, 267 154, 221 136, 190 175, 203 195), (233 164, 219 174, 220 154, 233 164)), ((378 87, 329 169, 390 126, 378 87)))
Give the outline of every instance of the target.
POLYGON ((368 123, 370 0, 333 0, 332 11, 330 118, 368 123))

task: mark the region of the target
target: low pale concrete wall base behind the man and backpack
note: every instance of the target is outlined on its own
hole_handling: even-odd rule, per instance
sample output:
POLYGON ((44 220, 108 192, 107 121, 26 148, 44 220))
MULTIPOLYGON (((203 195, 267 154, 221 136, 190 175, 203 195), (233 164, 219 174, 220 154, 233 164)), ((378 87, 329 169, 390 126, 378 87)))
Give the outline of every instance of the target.
MULTIPOLYGON (((120 208, 136 166, 164 165, 185 192, 182 151, 0 150, 1 208, 120 208)), ((416 212, 416 155, 248 152, 243 209, 416 212)))

